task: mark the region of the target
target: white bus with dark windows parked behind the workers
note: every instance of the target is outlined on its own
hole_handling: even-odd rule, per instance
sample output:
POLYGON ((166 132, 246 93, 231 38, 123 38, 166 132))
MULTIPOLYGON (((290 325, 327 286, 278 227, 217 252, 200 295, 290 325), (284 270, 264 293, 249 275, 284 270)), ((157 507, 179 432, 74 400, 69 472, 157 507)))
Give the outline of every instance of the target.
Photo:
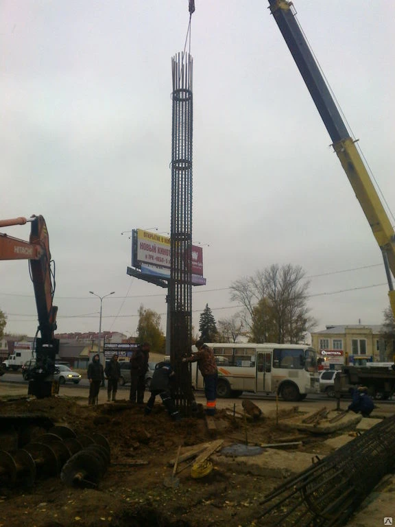
MULTIPOLYGON (((218 366, 217 397, 239 397, 243 392, 278 393, 285 401, 300 401, 320 393, 317 353, 302 344, 233 344, 214 342, 218 366)), ((192 351, 196 351, 195 346, 192 351)), ((204 388, 192 363, 192 384, 204 388)))

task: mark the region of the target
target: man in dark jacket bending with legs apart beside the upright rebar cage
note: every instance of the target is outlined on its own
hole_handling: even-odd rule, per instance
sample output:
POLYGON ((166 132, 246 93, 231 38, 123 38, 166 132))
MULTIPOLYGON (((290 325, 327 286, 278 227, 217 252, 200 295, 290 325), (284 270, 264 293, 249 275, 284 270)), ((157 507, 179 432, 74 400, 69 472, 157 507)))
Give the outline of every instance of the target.
POLYGON ((174 421, 180 421, 180 414, 171 399, 171 382, 174 377, 175 373, 169 362, 158 362, 158 364, 156 364, 151 379, 151 385, 149 386, 151 397, 149 397, 147 406, 145 406, 145 415, 149 415, 152 412, 156 395, 159 395, 160 399, 162 399, 163 406, 165 406, 167 412, 169 412, 171 419, 174 421))

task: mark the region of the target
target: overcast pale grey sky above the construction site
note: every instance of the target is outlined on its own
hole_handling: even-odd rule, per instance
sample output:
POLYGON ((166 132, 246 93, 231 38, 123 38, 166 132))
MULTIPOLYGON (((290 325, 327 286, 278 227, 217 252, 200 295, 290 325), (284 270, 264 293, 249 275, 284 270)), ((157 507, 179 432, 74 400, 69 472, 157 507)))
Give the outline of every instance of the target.
MULTIPOLYGON (((271 264, 311 277, 311 314, 379 324, 381 253, 263 0, 195 0, 193 242, 207 285, 194 325, 238 308, 229 285, 271 264), (348 272, 339 272, 348 270, 348 272)), ((298 20, 390 207, 395 207, 395 3, 295 0, 298 20)), ((134 228, 170 225, 171 56, 187 0, 3 0, 1 219, 42 214, 56 261, 58 332, 134 334, 165 290, 132 279, 134 228)), ((28 239, 29 226, 1 229, 28 239)), ((1 262, 6 331, 34 335, 27 261, 1 262)))

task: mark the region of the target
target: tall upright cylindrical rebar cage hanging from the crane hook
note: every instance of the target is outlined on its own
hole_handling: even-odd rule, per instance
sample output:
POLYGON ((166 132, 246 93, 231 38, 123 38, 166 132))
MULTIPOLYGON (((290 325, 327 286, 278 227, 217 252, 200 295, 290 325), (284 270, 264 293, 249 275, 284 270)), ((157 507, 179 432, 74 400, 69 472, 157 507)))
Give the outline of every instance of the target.
POLYGON ((192 336, 192 65, 187 53, 171 60, 170 358, 176 369, 176 406, 184 414, 189 414, 193 401, 191 372, 181 362, 182 355, 191 350, 192 336))

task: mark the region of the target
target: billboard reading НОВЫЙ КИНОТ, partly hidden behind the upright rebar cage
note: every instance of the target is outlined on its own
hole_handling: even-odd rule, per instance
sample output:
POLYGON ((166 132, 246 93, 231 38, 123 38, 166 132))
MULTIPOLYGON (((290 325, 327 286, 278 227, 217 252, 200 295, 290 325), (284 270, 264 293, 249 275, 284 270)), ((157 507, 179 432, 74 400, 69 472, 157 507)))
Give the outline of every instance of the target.
MULTIPOLYGON (((203 278, 203 248, 191 246, 193 285, 205 285, 203 278)), ((170 278, 170 237, 143 229, 132 231, 132 266, 159 278, 170 278)))

